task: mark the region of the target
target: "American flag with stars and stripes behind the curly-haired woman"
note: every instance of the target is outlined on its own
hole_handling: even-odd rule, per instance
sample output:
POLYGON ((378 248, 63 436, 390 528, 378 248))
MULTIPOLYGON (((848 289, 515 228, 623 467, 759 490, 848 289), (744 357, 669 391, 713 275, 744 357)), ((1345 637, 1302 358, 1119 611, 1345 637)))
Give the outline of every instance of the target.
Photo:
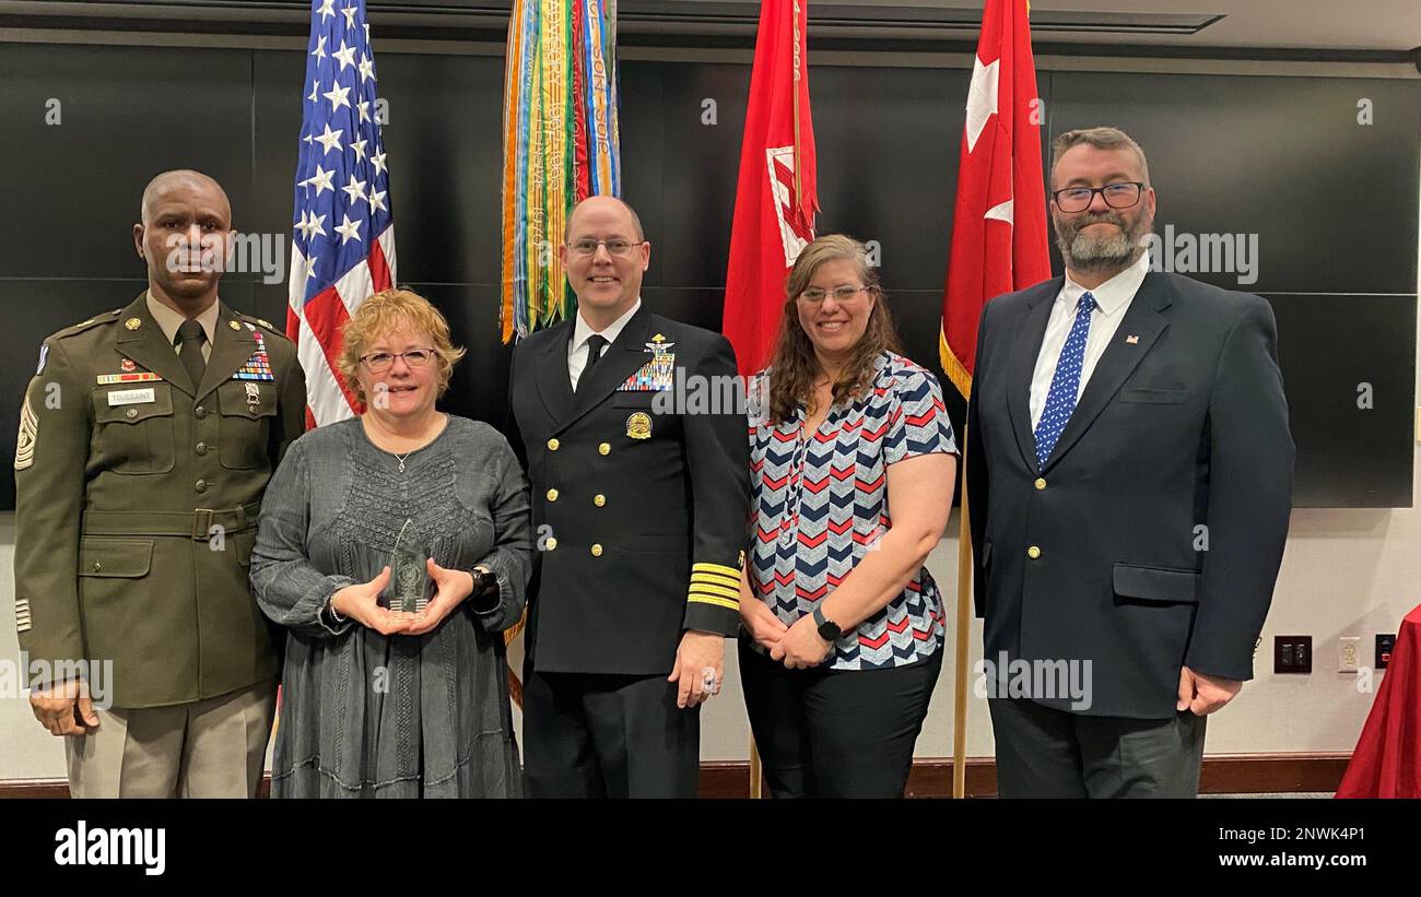
POLYGON ((314 0, 303 84, 286 334, 306 369, 307 424, 351 417, 341 325, 395 282, 389 169, 375 121, 365 0, 314 0), (340 1, 340 6, 337 6, 340 1))

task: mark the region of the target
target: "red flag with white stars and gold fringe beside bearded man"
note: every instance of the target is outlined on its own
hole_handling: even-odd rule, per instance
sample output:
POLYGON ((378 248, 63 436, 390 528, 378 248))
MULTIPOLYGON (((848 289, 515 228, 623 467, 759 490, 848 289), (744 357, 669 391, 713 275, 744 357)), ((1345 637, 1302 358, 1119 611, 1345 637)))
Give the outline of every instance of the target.
POLYGON ((1052 275, 1044 109, 1026 13, 1026 0, 988 0, 968 91, 939 346, 942 369, 963 396, 972 392, 982 307, 1052 275))

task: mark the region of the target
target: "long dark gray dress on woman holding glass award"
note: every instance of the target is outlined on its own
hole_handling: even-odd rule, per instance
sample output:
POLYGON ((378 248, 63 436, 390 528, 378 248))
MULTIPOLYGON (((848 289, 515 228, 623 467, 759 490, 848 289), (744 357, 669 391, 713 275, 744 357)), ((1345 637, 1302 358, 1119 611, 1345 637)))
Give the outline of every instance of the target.
POLYGON ((252 554, 257 603, 287 627, 273 796, 522 796, 503 630, 531 568, 527 481, 487 424, 450 414, 404 470, 358 419, 293 443, 252 554), (489 566, 497 606, 466 600, 421 636, 327 626, 327 599, 374 579, 406 521, 439 566, 489 566))

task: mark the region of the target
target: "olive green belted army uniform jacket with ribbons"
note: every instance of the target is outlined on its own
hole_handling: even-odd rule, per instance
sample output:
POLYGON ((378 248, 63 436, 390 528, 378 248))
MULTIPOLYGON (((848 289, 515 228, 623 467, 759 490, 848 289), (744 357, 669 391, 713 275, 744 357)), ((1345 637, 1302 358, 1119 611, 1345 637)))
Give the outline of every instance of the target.
POLYGON ((14 463, 20 647, 31 664, 111 660, 122 708, 276 677, 247 566, 306 416, 296 348, 270 324, 220 305, 193 385, 145 295, 44 341, 14 463))

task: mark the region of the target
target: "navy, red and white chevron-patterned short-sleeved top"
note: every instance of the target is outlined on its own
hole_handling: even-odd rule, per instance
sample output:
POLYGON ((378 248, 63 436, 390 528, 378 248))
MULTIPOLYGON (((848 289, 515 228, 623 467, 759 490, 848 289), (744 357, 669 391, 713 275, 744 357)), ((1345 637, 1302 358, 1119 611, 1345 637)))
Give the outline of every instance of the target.
MULTIPOLYGON (((804 407, 770 424, 770 370, 749 386, 750 582, 793 624, 848 578, 892 527, 888 466, 934 451, 956 453, 942 387, 926 369, 884 352, 872 386, 830 409, 817 433, 804 433, 804 407)), ((827 661, 833 670, 901 667, 925 660, 944 642, 942 598, 924 568, 902 595, 844 633, 827 661)), ((760 650, 759 644, 755 650, 760 650)))

